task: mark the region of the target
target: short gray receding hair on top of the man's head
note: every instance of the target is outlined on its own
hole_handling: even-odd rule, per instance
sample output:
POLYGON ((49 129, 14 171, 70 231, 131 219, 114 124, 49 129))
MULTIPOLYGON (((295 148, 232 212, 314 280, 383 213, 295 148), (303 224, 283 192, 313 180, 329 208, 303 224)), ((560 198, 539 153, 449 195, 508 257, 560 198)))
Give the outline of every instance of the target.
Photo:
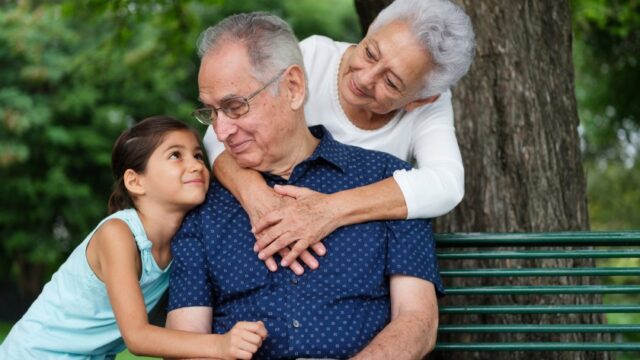
POLYGON ((275 15, 252 12, 225 18, 200 34, 198 56, 202 59, 209 51, 215 50, 221 41, 237 41, 245 45, 251 63, 251 75, 259 81, 267 82, 293 64, 304 70, 298 40, 289 24, 275 15))

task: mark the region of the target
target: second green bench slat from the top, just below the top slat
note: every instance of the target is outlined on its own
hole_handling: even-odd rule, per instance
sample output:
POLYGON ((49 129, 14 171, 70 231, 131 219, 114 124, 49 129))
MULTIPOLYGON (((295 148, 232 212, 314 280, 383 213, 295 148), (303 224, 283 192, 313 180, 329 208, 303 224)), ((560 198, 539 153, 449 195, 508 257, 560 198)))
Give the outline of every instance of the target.
POLYGON ((440 260, 465 259, 615 259, 640 258, 640 250, 451 251, 438 252, 440 260))

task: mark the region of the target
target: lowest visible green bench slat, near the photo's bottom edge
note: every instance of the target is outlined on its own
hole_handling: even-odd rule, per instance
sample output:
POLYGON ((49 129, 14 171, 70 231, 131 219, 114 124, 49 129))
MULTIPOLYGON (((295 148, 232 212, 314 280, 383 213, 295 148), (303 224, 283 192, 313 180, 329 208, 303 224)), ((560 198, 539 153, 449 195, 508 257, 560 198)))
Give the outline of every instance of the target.
POLYGON ((640 343, 438 343, 439 351, 640 351, 640 343))

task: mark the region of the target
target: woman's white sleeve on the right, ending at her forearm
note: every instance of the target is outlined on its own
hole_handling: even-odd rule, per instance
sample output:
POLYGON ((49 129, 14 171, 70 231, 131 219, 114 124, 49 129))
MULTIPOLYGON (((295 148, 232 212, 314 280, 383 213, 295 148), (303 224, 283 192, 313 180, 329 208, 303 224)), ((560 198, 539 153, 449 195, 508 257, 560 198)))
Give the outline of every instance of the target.
POLYGON ((464 196, 464 167, 453 127, 451 92, 419 116, 412 134, 416 169, 397 170, 393 178, 407 204, 407 218, 433 218, 451 211, 464 196))

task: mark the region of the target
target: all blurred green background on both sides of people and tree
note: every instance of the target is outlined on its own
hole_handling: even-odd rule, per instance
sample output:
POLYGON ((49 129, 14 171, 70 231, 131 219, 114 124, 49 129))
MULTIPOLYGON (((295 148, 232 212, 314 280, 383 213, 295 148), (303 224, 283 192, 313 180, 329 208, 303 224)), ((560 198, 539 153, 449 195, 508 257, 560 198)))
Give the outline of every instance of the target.
MULTIPOLYGON (((591 227, 639 229, 640 1, 571 5, 591 227)), ((0 339, 105 216, 117 135, 154 114, 198 127, 197 36, 255 10, 282 16, 299 39, 360 38, 352 0, 0 4, 0 339)))

